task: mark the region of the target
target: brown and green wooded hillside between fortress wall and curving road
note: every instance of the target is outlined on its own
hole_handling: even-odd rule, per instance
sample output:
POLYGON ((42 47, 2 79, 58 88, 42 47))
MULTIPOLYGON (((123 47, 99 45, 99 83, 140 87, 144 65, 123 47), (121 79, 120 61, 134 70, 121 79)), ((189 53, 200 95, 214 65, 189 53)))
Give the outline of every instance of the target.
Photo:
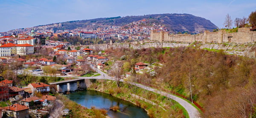
POLYGON ((256 115, 256 62, 254 59, 195 48, 109 49, 110 59, 125 60, 125 72, 146 62, 156 74, 137 73, 137 81, 175 91, 204 108, 205 118, 240 118, 256 115), (150 66, 150 65, 149 65, 150 66), (190 92, 191 91, 191 92, 190 92))

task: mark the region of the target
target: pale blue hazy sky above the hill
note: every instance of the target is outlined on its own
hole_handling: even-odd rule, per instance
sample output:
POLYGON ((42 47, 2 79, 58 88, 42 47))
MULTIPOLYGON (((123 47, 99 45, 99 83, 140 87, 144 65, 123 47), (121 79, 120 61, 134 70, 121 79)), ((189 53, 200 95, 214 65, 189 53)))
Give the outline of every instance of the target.
POLYGON ((248 17, 255 0, 0 0, 0 32, 99 17, 186 13, 224 27, 226 14, 248 17))

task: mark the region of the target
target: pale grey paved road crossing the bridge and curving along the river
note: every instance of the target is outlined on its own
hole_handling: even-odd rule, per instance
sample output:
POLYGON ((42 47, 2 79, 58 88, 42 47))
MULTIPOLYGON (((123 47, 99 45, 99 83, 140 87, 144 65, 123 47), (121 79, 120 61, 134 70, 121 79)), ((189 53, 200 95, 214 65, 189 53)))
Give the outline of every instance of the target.
MULTIPOLYGON (((91 66, 92 67, 92 66, 91 66)), ((109 79, 109 80, 114 80, 111 76, 108 76, 107 74, 103 73, 102 71, 99 71, 99 69, 96 69, 95 67, 92 67, 94 70, 96 70, 98 73, 100 73, 100 76, 95 76, 95 77, 75 77, 77 79, 109 79)), ((42 75, 35 75, 35 76, 42 76, 42 75)), ((60 77, 74 77, 74 76, 60 76, 60 77)), ((123 80, 121 80, 123 81, 123 80)), ((55 84, 55 83, 50 83, 50 84, 55 84)), ((177 96, 174 96, 173 94, 170 93, 166 93, 157 89, 153 89, 151 87, 142 85, 142 84, 137 84, 137 83, 131 83, 137 87, 141 87, 145 90, 149 90, 158 94, 161 94, 163 96, 166 96, 168 98, 171 98, 175 101, 177 101, 182 107, 184 107, 186 109, 186 111, 189 113, 189 118, 200 118, 199 117, 199 112, 198 110, 192 106, 191 104, 189 104, 186 100, 179 98, 177 96)))

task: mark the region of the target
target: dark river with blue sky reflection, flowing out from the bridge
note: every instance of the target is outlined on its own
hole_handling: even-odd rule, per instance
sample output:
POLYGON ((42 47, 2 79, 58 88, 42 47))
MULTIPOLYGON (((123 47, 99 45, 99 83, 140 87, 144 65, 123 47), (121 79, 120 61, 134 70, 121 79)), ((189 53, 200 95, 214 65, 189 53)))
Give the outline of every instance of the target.
POLYGON ((95 90, 81 90, 66 96, 84 107, 95 106, 98 109, 105 109, 111 118, 149 118, 144 109, 131 102, 95 90), (116 105, 119 106, 120 112, 109 110, 111 106, 116 105))

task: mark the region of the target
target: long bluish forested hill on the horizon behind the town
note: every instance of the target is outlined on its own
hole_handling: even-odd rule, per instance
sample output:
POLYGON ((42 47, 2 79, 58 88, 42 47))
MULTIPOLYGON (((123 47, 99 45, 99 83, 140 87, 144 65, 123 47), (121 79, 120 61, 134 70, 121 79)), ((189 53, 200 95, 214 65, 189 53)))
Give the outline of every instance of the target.
POLYGON ((192 14, 149 14, 143 16, 109 17, 90 20, 61 22, 62 26, 55 30, 76 28, 98 28, 107 25, 127 25, 131 22, 145 19, 147 24, 157 23, 166 26, 169 31, 199 33, 204 30, 218 28, 210 20, 196 17, 192 14), (95 23, 92 27, 92 23, 95 23))

